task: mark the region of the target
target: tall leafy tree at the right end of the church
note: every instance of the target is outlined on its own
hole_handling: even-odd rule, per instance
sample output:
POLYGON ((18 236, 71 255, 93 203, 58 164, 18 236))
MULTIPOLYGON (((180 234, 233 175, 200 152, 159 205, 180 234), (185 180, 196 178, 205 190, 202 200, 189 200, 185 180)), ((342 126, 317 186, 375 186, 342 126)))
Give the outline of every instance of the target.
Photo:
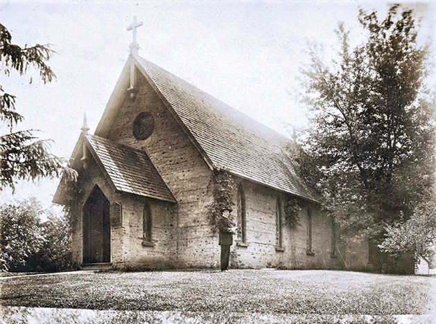
POLYGON ((360 10, 358 20, 364 44, 350 48, 339 24, 339 60, 313 51, 303 71, 313 119, 298 162, 344 231, 383 238, 435 197, 435 97, 412 10, 390 6, 383 21, 360 10))

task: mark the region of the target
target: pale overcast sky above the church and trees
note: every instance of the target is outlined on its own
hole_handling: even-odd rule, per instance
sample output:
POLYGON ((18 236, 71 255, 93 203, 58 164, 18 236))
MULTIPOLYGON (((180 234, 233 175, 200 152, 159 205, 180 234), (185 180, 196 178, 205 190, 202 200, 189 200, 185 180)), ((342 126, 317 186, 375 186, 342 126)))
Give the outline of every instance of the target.
MULTIPOLYGON (((421 42, 436 26, 435 3, 403 3, 421 20, 421 42)), ((43 84, 33 75, 7 77, 3 89, 17 96, 25 129, 51 138, 51 151, 68 158, 86 111, 94 132, 129 55, 137 16, 139 55, 232 107, 286 135, 286 125, 306 125, 304 91, 297 78, 309 44, 338 50, 339 21, 360 42, 359 8, 385 17, 387 2, 360 1, 0 1, 0 23, 19 46, 51 44, 49 66, 57 75, 43 84)), ((329 54, 331 55, 331 54, 329 54)), ((4 132, 1 129, 0 132, 4 132)), ((0 201, 35 196, 50 205, 58 179, 19 183, 0 201)))

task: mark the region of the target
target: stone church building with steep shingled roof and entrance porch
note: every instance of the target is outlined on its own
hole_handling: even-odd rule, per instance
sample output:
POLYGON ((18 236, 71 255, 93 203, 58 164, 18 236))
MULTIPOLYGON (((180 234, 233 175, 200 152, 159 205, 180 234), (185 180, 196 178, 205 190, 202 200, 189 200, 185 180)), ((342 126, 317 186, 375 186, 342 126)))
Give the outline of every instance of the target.
POLYGON ((82 127, 78 180, 61 181, 53 199, 69 206, 78 264, 218 269, 210 209, 225 172, 238 226, 230 268, 369 269, 367 244, 341 242, 298 176, 292 139, 139 57, 135 40, 130 48, 95 133, 82 127))

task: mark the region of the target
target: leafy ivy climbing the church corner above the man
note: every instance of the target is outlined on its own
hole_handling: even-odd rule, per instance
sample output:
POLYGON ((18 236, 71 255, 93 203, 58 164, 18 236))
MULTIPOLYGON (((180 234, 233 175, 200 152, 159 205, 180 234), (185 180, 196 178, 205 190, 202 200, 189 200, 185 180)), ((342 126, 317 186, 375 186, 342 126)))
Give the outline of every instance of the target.
POLYGON ((232 174, 227 170, 213 170, 211 180, 207 186, 207 190, 212 190, 213 202, 207 205, 207 217, 209 218, 213 231, 217 230, 216 223, 221 216, 221 209, 232 208, 233 192, 236 190, 236 185, 232 174))

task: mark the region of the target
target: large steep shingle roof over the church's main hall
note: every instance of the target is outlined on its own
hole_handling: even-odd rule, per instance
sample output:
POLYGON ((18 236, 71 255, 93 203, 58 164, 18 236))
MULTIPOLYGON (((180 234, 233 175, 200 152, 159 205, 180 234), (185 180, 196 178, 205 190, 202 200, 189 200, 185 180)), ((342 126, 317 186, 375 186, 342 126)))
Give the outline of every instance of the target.
POLYGON ((132 60, 180 118, 209 165, 305 199, 318 200, 315 190, 295 172, 285 149, 290 138, 141 57, 132 60))

